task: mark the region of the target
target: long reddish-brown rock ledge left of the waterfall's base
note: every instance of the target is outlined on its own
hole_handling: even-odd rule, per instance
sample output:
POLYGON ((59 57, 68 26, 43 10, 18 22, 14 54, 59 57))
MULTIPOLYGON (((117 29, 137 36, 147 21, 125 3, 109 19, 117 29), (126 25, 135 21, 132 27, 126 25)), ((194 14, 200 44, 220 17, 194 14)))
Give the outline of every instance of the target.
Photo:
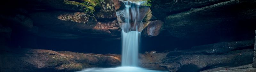
POLYGON ((75 53, 39 49, 1 51, 1 72, 71 72, 91 67, 120 65, 120 58, 109 54, 75 53))

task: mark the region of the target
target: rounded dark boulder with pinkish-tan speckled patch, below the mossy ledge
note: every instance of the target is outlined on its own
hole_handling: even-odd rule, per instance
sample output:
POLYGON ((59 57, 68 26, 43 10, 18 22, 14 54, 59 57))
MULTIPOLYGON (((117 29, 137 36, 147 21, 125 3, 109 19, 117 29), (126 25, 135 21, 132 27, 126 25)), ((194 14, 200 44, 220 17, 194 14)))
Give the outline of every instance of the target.
POLYGON ((84 12, 36 12, 30 14, 30 17, 35 21, 35 26, 38 26, 41 31, 48 29, 48 31, 78 36, 88 35, 85 33, 92 32, 92 28, 98 23, 93 16, 84 12))

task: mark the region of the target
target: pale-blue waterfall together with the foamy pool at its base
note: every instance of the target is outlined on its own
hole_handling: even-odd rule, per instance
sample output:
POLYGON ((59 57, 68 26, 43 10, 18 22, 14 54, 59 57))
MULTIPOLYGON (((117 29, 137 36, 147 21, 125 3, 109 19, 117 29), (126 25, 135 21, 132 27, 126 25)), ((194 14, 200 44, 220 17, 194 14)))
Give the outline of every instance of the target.
POLYGON ((125 3, 125 24, 122 28, 122 66, 117 68, 87 68, 78 72, 169 72, 148 70, 138 67, 138 49, 140 32, 138 31, 147 8, 140 10, 140 4, 145 1, 122 1, 125 3))

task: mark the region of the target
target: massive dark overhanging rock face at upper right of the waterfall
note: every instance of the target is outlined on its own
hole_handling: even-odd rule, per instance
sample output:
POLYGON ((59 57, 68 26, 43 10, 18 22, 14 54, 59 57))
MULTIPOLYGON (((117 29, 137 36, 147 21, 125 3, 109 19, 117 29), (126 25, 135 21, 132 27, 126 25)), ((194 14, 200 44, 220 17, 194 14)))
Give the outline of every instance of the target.
POLYGON ((171 36, 202 41, 235 40, 255 30, 252 24, 256 18, 255 3, 254 0, 152 0, 150 9, 157 19, 164 21, 163 30, 171 36))

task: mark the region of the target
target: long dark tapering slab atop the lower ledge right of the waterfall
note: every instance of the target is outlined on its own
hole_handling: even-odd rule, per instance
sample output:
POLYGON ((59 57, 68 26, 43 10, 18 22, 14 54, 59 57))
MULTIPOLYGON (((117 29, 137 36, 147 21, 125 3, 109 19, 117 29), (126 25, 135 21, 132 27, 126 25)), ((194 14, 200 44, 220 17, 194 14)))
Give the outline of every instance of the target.
POLYGON ((236 50, 252 49, 253 40, 234 41, 234 42, 219 42, 215 44, 206 44, 194 46, 189 50, 171 51, 167 56, 180 56, 192 54, 223 54, 236 50))

